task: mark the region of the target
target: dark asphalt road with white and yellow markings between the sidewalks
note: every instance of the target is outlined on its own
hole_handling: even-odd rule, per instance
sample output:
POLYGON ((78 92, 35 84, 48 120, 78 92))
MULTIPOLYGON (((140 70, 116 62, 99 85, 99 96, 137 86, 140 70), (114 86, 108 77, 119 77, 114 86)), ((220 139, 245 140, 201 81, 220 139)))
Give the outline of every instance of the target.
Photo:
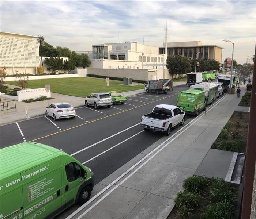
MULTIPOLYGON (((141 94, 110 108, 81 107, 76 109, 74 119, 54 121, 42 116, 1 126, 0 147, 36 141, 62 149, 91 168, 97 184, 163 137, 159 132, 145 132, 140 118, 155 105, 176 105, 178 93, 186 89, 186 85, 181 85, 167 94, 141 94)), ((186 122, 192 118, 186 116, 186 122)), ((75 208, 69 208, 59 218, 68 216, 75 208)))

